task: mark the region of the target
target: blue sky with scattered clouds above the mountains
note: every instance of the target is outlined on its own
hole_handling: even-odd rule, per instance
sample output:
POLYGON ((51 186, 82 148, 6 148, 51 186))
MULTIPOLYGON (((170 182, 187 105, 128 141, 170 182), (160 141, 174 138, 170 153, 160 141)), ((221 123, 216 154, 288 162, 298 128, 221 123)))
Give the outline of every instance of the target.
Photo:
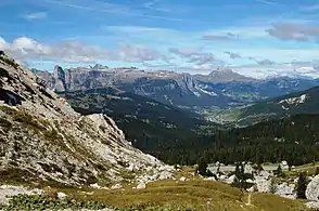
POLYGON ((38 69, 319 77, 319 0, 0 0, 0 49, 38 69))

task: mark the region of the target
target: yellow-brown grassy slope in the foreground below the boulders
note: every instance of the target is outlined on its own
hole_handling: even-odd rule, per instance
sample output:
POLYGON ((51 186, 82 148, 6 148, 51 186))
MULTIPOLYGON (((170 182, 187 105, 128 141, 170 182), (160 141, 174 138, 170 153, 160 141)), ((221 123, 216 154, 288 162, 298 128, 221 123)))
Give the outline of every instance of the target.
POLYGON ((264 210, 264 211, 291 211, 306 210, 304 201, 290 200, 269 194, 248 194, 220 182, 203 181, 191 176, 192 169, 186 169, 176 174, 177 179, 186 176, 187 182, 167 180, 149 183, 145 189, 132 189, 132 184, 127 184, 119 190, 107 189, 74 189, 51 188, 51 192, 63 192, 77 199, 97 200, 107 206, 127 209, 129 207, 140 210, 191 210, 200 211, 237 211, 237 210, 264 210))

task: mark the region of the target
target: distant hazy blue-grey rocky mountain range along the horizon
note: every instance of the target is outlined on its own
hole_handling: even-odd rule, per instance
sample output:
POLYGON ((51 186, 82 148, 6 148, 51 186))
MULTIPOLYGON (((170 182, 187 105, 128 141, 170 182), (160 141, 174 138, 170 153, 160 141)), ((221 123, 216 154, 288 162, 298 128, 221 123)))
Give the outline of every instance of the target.
POLYGON ((58 93, 113 88, 181 108, 226 108, 272 98, 319 85, 309 78, 270 78, 257 80, 231 69, 219 68, 209 75, 146 71, 135 67, 109 68, 102 65, 54 71, 33 69, 58 93))

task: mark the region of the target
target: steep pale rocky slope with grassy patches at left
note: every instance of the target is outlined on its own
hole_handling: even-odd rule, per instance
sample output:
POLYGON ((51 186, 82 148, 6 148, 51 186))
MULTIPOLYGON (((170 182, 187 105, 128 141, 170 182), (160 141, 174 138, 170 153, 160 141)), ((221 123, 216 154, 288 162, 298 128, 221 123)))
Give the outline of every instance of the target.
POLYGON ((111 118, 75 113, 3 52, 0 90, 1 182, 110 184, 165 170, 133 148, 111 118))

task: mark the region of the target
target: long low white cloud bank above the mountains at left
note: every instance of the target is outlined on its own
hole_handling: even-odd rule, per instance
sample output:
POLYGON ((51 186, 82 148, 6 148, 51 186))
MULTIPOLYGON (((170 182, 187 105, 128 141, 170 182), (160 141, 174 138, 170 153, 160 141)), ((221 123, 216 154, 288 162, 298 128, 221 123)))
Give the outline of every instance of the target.
POLYGON ((54 61, 66 63, 94 63, 99 60, 142 63, 145 61, 167 61, 161 52, 143 45, 120 44, 116 50, 102 50, 95 45, 65 40, 53 45, 39 43, 21 37, 8 43, 0 37, 0 50, 20 61, 54 61))

